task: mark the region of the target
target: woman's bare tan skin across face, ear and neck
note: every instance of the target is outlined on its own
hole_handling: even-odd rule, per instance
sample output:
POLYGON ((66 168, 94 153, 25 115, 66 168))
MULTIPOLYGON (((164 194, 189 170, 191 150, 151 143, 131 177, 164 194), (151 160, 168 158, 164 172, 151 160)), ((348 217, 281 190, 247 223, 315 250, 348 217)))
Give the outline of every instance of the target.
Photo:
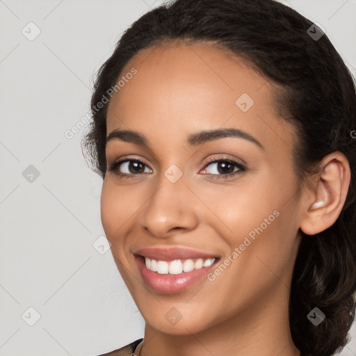
POLYGON ((145 165, 136 175, 121 165, 117 172, 129 178, 106 172, 101 213, 115 263, 145 318, 141 355, 300 355, 288 318, 300 229, 313 235, 339 216, 350 181, 346 157, 326 156, 301 186, 293 170, 296 133, 275 111, 273 86, 211 44, 145 49, 122 75, 132 67, 137 74, 109 104, 107 134, 136 130, 149 148, 108 142, 108 165, 124 158, 145 165), (246 112, 235 104, 243 93, 254 100, 246 112), (232 137, 186 144, 191 133, 227 127, 249 133, 264 149, 232 137), (213 179, 209 174, 224 173, 217 163, 207 165, 210 158, 245 161, 247 169, 213 179), (172 164, 183 173, 175 183, 164 175, 172 164), (276 210, 280 215, 215 280, 170 295, 145 286, 134 250, 187 247, 225 261, 276 210), (165 318, 171 308, 181 314, 175 325, 165 318))

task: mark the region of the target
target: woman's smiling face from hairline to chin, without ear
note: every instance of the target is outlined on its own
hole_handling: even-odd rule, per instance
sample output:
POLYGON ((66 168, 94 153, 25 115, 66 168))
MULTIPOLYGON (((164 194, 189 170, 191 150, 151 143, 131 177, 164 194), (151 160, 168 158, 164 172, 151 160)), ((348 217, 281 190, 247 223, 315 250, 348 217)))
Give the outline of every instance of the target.
POLYGON ((191 334, 281 311, 288 321, 302 200, 295 132, 270 84, 207 44, 145 49, 120 79, 106 159, 124 162, 106 172, 102 223, 147 325, 191 334))

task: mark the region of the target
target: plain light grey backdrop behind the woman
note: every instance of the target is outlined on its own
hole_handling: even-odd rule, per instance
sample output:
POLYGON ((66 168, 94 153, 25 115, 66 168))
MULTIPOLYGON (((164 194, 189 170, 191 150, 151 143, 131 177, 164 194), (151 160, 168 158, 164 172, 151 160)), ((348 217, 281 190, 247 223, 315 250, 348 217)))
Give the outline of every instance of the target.
MULTIPOLYGON (((356 75, 356 0, 282 1, 356 75)), ((95 72, 163 1, 0 0, 0 355, 92 356, 143 337, 105 245, 102 179, 80 148, 95 72)), ((356 127, 355 127, 356 129, 356 127)), ((356 355, 353 339, 341 355, 356 355)))

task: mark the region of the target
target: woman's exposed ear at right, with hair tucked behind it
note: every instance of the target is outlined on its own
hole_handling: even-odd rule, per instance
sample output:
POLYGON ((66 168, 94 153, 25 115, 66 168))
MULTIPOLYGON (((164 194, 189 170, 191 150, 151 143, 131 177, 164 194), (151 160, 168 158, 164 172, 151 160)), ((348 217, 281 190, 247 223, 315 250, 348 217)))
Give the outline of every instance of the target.
POLYGON ((335 223, 346 200, 350 176, 350 165, 344 154, 332 152, 324 157, 313 184, 307 188, 300 222, 302 232, 318 234, 335 223))

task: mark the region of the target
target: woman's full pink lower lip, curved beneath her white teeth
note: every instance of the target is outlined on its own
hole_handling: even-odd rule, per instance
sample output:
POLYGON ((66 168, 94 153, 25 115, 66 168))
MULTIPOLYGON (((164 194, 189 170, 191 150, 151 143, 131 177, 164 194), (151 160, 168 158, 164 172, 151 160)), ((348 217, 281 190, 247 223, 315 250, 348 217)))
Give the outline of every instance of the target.
POLYGON ((202 280, 209 271, 215 267, 218 259, 209 267, 202 267, 197 270, 191 270, 190 272, 183 272, 179 275, 161 275, 159 273, 149 270, 145 261, 140 256, 135 256, 138 268, 143 277, 145 284, 157 293, 174 294, 184 291, 185 289, 193 286, 193 284, 202 280))

